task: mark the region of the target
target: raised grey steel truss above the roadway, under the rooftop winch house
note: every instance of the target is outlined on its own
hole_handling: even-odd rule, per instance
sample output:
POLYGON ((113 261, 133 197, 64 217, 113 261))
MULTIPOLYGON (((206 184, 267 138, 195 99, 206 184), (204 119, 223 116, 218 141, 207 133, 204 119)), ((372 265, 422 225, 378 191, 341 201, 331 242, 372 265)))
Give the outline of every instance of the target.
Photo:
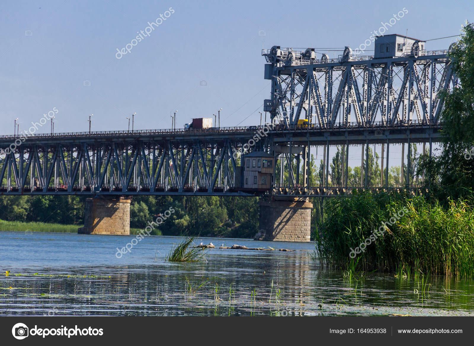
POLYGON ((436 123, 443 106, 439 92, 457 83, 446 53, 367 60, 351 56, 331 62, 270 59, 272 119, 290 114, 286 124, 295 125, 304 118, 320 127, 349 122, 369 126, 374 122, 436 123))

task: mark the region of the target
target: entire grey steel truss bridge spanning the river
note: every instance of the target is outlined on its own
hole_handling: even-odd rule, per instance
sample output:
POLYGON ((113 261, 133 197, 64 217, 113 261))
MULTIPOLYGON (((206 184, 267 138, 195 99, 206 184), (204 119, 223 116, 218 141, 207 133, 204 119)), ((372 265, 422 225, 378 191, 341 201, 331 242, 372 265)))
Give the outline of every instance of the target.
POLYGON ((427 143, 431 154, 440 141, 438 95, 458 84, 446 51, 381 59, 348 52, 336 60, 318 60, 308 49, 273 47, 262 54, 269 63, 265 77, 272 79, 264 110, 278 125, 35 134, 15 146, 18 136, 0 136, 1 149, 13 148, 0 155, 0 195, 311 197, 356 188, 418 189, 403 181, 389 186, 388 169, 371 186, 369 145, 382 145, 382 168, 384 154, 389 166, 392 144, 407 143, 407 158, 410 143, 427 143), (300 119, 308 126, 301 128, 300 119), (329 179, 329 148, 335 145, 345 148, 339 186, 329 179), (362 148, 361 184, 350 186, 348 150, 355 145, 362 148), (310 186, 315 147, 324 153, 323 178, 310 186), (275 157, 271 189, 242 188, 245 151, 235 155, 242 148, 275 157))

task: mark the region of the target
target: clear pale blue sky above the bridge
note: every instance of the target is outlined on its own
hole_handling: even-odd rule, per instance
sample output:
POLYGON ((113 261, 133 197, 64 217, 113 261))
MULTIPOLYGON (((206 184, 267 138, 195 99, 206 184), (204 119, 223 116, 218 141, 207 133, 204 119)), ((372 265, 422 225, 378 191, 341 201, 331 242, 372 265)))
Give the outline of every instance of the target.
POLYGON ((3 0, 0 132, 13 133, 15 118, 26 129, 53 107, 56 132, 87 131, 90 113, 95 131, 126 130, 133 112, 135 129, 170 127, 174 110, 182 127, 219 108, 221 126, 258 124, 270 94, 263 47, 355 48, 403 8, 408 13, 386 34, 457 35, 474 18, 472 0, 3 0), (149 37, 116 58, 116 48, 170 7, 149 37))

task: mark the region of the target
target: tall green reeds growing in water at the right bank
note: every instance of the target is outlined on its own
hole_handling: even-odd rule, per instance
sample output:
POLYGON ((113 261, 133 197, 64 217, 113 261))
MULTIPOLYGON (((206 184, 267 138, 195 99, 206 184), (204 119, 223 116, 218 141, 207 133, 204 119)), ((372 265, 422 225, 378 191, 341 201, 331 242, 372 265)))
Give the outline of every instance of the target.
POLYGON ((357 255, 357 270, 474 275, 473 206, 460 200, 443 207, 423 196, 364 193, 329 200, 315 235, 319 261, 353 271, 350 248, 363 243, 403 207, 409 213, 357 255))

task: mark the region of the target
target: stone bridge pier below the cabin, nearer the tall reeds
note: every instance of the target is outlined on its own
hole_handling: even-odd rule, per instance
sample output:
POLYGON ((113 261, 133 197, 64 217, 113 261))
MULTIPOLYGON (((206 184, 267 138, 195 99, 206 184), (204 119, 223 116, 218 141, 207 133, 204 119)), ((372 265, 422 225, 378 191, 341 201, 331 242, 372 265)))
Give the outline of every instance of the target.
POLYGON ((312 209, 308 199, 261 200, 259 229, 265 230, 265 240, 309 242, 312 209))

